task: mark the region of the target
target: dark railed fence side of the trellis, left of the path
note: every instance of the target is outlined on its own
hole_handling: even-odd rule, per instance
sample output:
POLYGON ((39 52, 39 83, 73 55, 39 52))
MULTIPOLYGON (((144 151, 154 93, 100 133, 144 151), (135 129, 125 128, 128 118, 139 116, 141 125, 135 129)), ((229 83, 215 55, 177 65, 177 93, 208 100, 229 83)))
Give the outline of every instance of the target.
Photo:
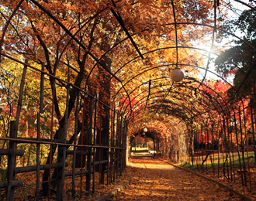
MULTIPOLYGON (((9 141, 9 149, 0 149, 1 155, 8 155, 8 182, 1 182, 1 188, 6 188, 6 199, 7 200, 14 200, 15 199, 15 189, 18 186, 25 185, 20 180, 15 180, 15 175, 22 173, 22 172, 36 172, 36 183, 30 185, 36 185, 36 199, 40 197, 40 184, 47 182, 48 188, 48 195, 50 196, 50 182, 55 182, 57 180, 57 199, 62 199, 64 196, 64 185, 67 185, 67 181, 65 183, 65 179, 71 177, 71 181, 69 181, 69 185, 72 186, 72 193, 76 192, 75 189, 75 182, 77 176, 80 176, 80 195, 82 192, 86 190, 87 192, 94 192, 95 191, 95 166, 99 165, 99 179, 102 183, 115 181, 116 177, 122 174, 125 166, 126 166, 126 119, 120 114, 116 112, 113 108, 111 110, 111 130, 108 136, 105 136, 105 141, 101 131, 98 131, 97 134, 99 136, 99 143, 96 141, 96 128, 97 123, 97 108, 105 105, 99 99, 92 97, 90 94, 86 93, 84 90, 79 89, 77 98, 76 98, 76 112, 74 114, 75 124, 74 124, 74 138, 71 138, 67 141, 67 118, 65 120, 65 129, 61 129, 58 134, 58 138, 50 138, 45 139, 40 137, 40 118, 43 114, 43 82, 44 82, 44 65, 42 65, 41 73, 41 80, 40 80, 40 113, 37 114, 37 135, 36 138, 22 138, 17 136, 17 131, 19 127, 19 115, 22 107, 22 93, 23 87, 26 80, 26 70, 30 67, 31 69, 36 70, 33 66, 29 66, 27 63, 24 63, 24 69, 22 74, 22 82, 20 84, 19 90, 19 104, 16 114, 16 121, 11 121, 10 126, 10 136, 9 138, 0 138, 1 140, 9 141), (85 97, 85 96, 88 97, 85 97), (90 100, 91 104, 89 107, 89 119, 90 119, 90 127, 89 127, 89 138, 87 145, 78 143, 78 107, 79 101, 84 99, 84 101, 90 100), (107 137, 107 138, 106 138, 107 137), (107 141, 106 141, 107 139, 107 141), (102 140, 102 141, 101 141, 102 140), (17 144, 19 143, 27 143, 27 144, 36 144, 36 165, 26 166, 26 167, 16 167, 16 156, 24 155, 24 151, 17 150, 17 144), (40 145, 50 145, 50 158, 53 158, 53 146, 57 146, 57 162, 54 163, 50 160, 49 164, 42 165, 40 163, 40 145), (71 148, 71 150, 67 150, 71 148), (77 149, 80 148, 80 151, 77 149), (99 153, 98 161, 96 161, 96 152, 99 153), (82 154, 81 154, 82 153, 82 154), (65 167, 67 167, 66 158, 67 155, 72 155, 72 171, 67 172, 64 171, 65 167), (82 155, 84 158, 79 158, 81 162, 81 169, 75 169, 75 160, 78 155, 82 155), (86 166, 82 165, 82 163, 86 162, 86 166), (84 166, 86 168, 84 168, 84 166), (49 171, 49 180, 48 181, 41 181, 40 179, 40 170, 45 169, 54 169, 57 173, 52 177, 53 172, 49 171), (107 179, 105 179, 105 175, 107 179), (86 187, 83 189, 83 180, 85 180, 86 187), (91 186, 92 182, 92 186, 91 186)), ((48 74, 49 75, 49 74, 48 74)), ((51 75, 50 75, 51 76, 51 75)), ((54 79, 58 79, 54 77, 54 79)), ((64 80, 63 80, 64 81, 64 80)), ((70 85, 71 83, 67 83, 70 85)), ((67 94, 69 94, 69 87, 67 87, 67 94)), ((67 95, 68 97, 68 95, 67 95)), ((68 103, 68 100, 66 101, 68 103)), ((54 103, 53 103, 54 104, 54 103)), ((52 106, 54 107, 54 106, 52 106)), ((66 105, 68 108, 68 104, 66 105)), ((106 106, 108 107, 108 106, 106 106)), ((66 110, 66 112, 68 109, 66 110)), ((85 115, 85 113, 84 113, 85 115)), ((54 114, 52 113, 52 117, 54 114)), ((82 119, 85 119, 85 116, 81 116, 82 119)), ((53 132, 54 126, 51 126, 51 133, 53 132)), ((80 129, 82 130, 82 128, 80 129)), ((53 135, 50 135, 53 136, 53 135)), ((83 136, 83 135, 81 135, 83 136)), ((67 179, 66 179, 67 180, 67 179)), ((69 179, 70 180, 70 179, 69 179)), ((56 185, 56 184, 55 184, 56 185)))

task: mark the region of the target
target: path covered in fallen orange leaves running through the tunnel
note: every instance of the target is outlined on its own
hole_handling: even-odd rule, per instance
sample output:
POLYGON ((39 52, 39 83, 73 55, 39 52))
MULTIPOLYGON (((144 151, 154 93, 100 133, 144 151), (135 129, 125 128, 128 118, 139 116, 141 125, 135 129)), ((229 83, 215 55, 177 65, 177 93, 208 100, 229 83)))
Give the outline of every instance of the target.
POLYGON ((132 183, 110 200, 243 200, 227 189, 154 158, 132 158, 132 183))

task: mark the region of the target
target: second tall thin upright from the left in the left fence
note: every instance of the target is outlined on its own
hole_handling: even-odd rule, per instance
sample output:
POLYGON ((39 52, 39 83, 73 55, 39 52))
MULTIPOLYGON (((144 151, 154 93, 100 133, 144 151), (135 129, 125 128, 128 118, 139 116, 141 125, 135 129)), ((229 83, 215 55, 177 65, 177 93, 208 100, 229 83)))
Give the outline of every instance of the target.
MULTIPOLYGON (((44 63, 42 63, 42 71, 44 72, 44 63)), ((41 73, 40 81, 40 109, 37 114, 37 136, 36 140, 40 141, 40 126, 41 120, 40 115, 43 113, 43 83, 44 73, 41 73)), ((40 144, 36 144, 36 200, 39 200, 39 187, 40 187, 40 144)))

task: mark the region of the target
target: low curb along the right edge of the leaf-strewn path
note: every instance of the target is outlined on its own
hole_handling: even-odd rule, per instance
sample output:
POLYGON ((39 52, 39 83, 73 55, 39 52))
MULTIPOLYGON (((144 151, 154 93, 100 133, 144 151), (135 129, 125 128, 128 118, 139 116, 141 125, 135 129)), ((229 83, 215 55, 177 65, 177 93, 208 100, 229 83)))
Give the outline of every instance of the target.
MULTIPOLYGON (((165 162, 165 161, 164 161, 164 162, 165 162)), ((215 183, 218 184, 219 186, 221 186, 221 187, 223 187, 223 188, 227 188, 230 192, 234 192, 234 194, 237 194, 237 196, 242 197, 245 201, 253 201, 253 199, 249 198, 248 196, 245 196, 244 194, 242 194, 242 193, 236 191, 235 189, 230 188, 229 186, 224 185, 224 184, 221 183, 221 182, 216 181, 215 179, 211 179, 211 178, 209 178, 209 177, 207 177, 207 176, 205 176, 205 175, 201 175, 201 174, 199 174, 199 173, 197 173, 197 172, 194 172, 194 171, 192 171, 192 170, 190 170, 190 169, 185 169, 185 168, 182 168, 182 167, 180 167, 180 166, 178 166, 178 165, 174 165, 174 164, 172 164, 171 162, 168 162, 168 163, 169 163, 170 165, 175 166, 175 167, 178 168, 178 169, 182 169, 182 170, 185 170, 185 171, 187 171, 187 172, 191 172, 191 173, 193 173, 193 174, 195 174, 195 175, 199 175, 199 176, 201 176, 202 178, 207 179, 207 180, 209 180, 209 181, 211 181, 211 182, 215 182, 215 183)))

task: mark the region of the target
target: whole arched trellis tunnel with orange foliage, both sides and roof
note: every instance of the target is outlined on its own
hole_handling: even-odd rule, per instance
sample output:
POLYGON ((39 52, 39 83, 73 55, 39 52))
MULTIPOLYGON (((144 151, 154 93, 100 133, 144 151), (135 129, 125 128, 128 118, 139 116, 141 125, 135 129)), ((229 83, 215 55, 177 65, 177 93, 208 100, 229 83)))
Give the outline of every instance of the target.
MULTIPOLYGON (((234 2, 256 10, 253 2, 234 2)), ((36 200, 40 191, 50 199, 51 190, 61 200, 65 186, 71 186, 72 196, 94 192, 96 172, 101 183, 122 174, 129 142, 144 126, 164 157, 206 171, 208 162, 216 177, 255 185, 250 160, 256 161, 251 77, 256 46, 222 27, 227 10, 233 9, 230 2, 22 0, 1 5, 2 69, 12 63, 22 69, 14 90, 19 98, 9 101, 12 91, 1 105, 2 111, 11 108, 5 113, 15 120, 5 125, 8 133, 2 131, 0 138, 0 154, 8 155, 8 176, 0 182, 7 200, 15 199, 18 186, 36 186, 36 200), (220 56, 217 34, 239 39, 251 53, 247 70, 230 61, 244 76, 238 86, 211 70, 220 56), (178 66, 187 74, 175 83, 170 74, 178 66), (235 97, 217 91, 206 80, 209 74, 235 97), (247 86, 250 97, 241 93, 247 86), (24 100, 33 104, 24 105, 24 100), (19 150, 28 144, 26 152, 19 150), (26 166, 24 155, 30 156, 32 145, 36 165, 26 166), (23 157, 23 167, 16 164, 17 156, 23 157), (36 183, 15 180, 17 174, 33 171, 36 183)))

